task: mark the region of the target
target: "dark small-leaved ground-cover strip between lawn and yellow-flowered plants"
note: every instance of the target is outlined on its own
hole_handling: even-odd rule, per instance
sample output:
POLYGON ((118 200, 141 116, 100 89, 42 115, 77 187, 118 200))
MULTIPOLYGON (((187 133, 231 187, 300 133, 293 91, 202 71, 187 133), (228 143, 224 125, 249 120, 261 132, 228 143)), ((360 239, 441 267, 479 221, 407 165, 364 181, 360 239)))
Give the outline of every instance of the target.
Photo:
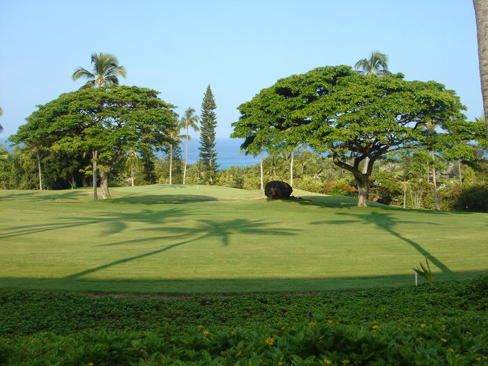
POLYGON ((450 317, 488 317, 488 276, 436 287, 316 293, 146 298, 91 296, 59 291, 0 291, 0 335, 56 334, 82 330, 211 330, 277 326, 328 319, 346 324, 408 321, 433 323, 450 317))

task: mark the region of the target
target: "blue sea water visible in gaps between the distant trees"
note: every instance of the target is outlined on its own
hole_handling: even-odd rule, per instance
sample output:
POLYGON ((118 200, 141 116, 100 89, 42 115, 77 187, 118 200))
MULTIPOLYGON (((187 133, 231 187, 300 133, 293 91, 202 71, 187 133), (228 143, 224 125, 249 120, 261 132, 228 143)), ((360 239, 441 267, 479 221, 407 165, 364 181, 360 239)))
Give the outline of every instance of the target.
MULTIPOLYGON (((219 169, 227 169, 229 167, 245 167, 259 164, 259 156, 254 158, 252 155, 244 155, 241 153, 242 139, 218 138, 215 139, 215 149, 217 151, 217 163, 220 165, 219 169)), ((11 150, 6 138, 0 138, 0 144, 3 144, 9 151, 11 150)), ((199 160, 199 137, 193 137, 188 144, 188 164, 193 164, 199 160)), ((185 145, 181 144, 182 156, 185 158, 185 145)))

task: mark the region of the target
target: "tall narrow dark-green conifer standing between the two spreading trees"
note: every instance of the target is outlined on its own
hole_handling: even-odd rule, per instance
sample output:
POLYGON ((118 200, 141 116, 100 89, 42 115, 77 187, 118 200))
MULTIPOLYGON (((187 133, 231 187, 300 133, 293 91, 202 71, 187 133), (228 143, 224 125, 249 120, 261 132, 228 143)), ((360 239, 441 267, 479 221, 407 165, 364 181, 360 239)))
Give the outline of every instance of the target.
POLYGON ((217 126, 217 115, 215 114, 215 100, 210 85, 207 86, 204 101, 201 103, 200 115, 200 158, 204 164, 205 176, 208 183, 213 184, 217 164, 217 151, 215 151, 215 126, 217 126))

